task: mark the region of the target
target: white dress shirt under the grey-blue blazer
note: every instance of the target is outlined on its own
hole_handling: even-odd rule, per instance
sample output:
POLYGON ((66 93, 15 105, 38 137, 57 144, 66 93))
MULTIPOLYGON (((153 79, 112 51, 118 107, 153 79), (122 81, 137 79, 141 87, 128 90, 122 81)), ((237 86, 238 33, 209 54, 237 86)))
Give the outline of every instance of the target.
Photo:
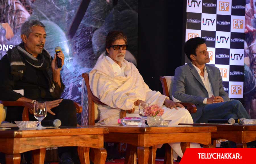
MULTIPOLYGON (((195 67, 195 69, 197 70, 198 74, 200 75, 201 70, 199 68, 197 68, 197 66, 195 66, 193 63, 191 63, 191 64, 195 67)), ((202 75, 200 75, 200 77, 201 77, 201 79, 202 79, 202 81, 203 81, 203 83, 205 85, 205 88, 206 88, 206 90, 208 92, 208 98, 210 98, 213 95, 212 85, 211 85, 211 83, 209 81, 208 73, 206 71, 206 67, 204 67, 204 69, 205 69, 205 77, 203 77, 202 75)), ((204 99, 203 103, 204 104, 207 103, 207 97, 204 99)))

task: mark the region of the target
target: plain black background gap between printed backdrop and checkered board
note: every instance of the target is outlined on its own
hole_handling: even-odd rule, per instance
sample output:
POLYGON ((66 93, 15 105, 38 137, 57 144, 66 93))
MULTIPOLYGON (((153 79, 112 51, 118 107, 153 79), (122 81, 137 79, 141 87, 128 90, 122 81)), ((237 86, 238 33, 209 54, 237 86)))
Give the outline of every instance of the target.
POLYGON ((139 0, 138 69, 152 90, 162 92, 160 76, 184 65, 186 1, 139 0))

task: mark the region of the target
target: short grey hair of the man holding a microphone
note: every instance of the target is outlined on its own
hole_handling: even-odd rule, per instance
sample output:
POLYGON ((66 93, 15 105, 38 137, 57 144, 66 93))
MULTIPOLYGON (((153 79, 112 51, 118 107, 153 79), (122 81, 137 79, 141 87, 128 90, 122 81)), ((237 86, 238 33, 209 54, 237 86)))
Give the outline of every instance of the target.
POLYGON ((28 21, 25 21, 21 26, 21 29, 20 29, 21 35, 24 34, 28 37, 29 34, 32 32, 31 28, 33 26, 41 26, 45 30, 45 25, 42 22, 40 22, 38 20, 28 20, 28 21))

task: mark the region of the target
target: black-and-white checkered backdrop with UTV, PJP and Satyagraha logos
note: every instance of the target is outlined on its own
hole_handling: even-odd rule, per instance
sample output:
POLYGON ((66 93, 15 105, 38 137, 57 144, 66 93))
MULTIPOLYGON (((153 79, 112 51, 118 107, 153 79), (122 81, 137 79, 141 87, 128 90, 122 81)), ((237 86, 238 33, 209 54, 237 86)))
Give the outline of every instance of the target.
MULTIPOLYGON (((230 98, 243 98, 245 0, 187 0, 185 41, 206 40, 230 98)), ((185 62, 190 62, 185 57, 185 62)))

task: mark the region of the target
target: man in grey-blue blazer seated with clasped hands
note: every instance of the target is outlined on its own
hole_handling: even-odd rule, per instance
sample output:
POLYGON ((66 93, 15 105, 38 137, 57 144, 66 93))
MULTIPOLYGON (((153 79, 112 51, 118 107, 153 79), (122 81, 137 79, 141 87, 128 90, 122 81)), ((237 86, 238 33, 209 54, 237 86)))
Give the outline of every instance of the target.
POLYGON ((174 101, 197 106, 197 112, 191 114, 193 121, 207 123, 208 119, 250 118, 240 101, 228 98, 220 70, 206 64, 210 58, 205 40, 191 38, 184 50, 191 63, 176 68, 172 95, 174 101))

